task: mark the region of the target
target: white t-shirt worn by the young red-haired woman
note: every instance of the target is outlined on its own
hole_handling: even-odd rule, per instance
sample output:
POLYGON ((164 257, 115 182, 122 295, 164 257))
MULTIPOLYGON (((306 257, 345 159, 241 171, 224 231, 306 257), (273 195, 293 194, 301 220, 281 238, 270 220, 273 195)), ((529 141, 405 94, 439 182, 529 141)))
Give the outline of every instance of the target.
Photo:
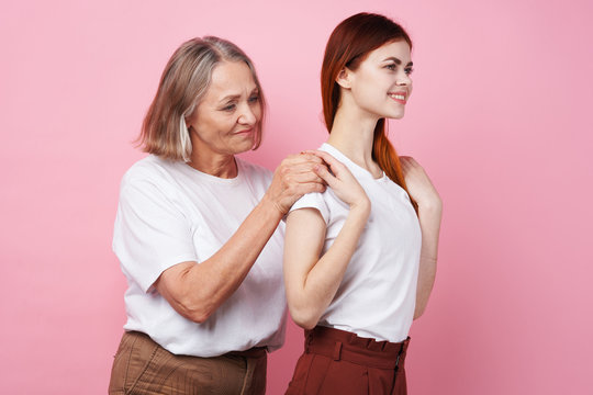
MULTIPOLYGON (((405 340, 414 318, 422 235, 410 196, 384 173, 374 179, 335 147, 320 150, 343 162, 365 189, 371 213, 342 284, 318 325, 360 337, 399 342, 405 340)), ((327 230, 322 253, 334 244, 349 207, 331 188, 310 193, 291 208, 320 211, 327 230)))

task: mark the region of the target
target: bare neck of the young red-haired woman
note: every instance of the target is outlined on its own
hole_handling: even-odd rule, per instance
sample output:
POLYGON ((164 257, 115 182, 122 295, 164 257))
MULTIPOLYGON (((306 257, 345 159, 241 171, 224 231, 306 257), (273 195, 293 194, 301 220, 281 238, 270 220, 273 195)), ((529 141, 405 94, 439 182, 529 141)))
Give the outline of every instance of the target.
POLYGON ((336 112, 327 143, 374 177, 380 177, 381 169, 372 160, 374 126, 379 117, 358 105, 344 104, 343 101, 336 112))

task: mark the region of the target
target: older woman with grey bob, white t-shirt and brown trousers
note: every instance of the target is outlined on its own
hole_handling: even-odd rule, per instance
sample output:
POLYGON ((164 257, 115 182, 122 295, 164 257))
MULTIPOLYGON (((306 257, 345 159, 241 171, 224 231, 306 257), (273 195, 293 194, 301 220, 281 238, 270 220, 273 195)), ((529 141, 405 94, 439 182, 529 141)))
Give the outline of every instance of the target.
POLYGON ((315 155, 273 176, 236 157, 259 146, 264 109, 251 60, 227 41, 191 40, 167 64, 139 137, 150 155, 121 183, 127 323, 111 394, 265 392, 286 321, 278 224, 325 187, 315 155))

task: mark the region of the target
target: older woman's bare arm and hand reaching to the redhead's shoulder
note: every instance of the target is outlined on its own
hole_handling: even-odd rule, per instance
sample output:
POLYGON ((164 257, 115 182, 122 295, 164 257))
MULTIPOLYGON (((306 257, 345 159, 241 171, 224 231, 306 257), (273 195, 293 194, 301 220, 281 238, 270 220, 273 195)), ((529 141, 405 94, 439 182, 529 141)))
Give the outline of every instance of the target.
POLYGON ((324 168, 321 163, 314 155, 284 159, 261 202, 228 241, 200 264, 181 262, 165 270, 155 282, 157 291, 183 317, 205 321, 242 284, 290 206, 303 194, 325 189, 312 171, 324 168))

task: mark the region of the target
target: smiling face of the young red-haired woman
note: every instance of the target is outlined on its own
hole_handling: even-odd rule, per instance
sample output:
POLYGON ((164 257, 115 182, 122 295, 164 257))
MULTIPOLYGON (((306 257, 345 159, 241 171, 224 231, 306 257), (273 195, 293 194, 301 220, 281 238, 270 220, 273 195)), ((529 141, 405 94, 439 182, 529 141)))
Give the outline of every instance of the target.
POLYGON ((358 106, 378 117, 401 119, 412 93, 410 45, 404 40, 369 53, 356 71, 348 70, 358 106))

